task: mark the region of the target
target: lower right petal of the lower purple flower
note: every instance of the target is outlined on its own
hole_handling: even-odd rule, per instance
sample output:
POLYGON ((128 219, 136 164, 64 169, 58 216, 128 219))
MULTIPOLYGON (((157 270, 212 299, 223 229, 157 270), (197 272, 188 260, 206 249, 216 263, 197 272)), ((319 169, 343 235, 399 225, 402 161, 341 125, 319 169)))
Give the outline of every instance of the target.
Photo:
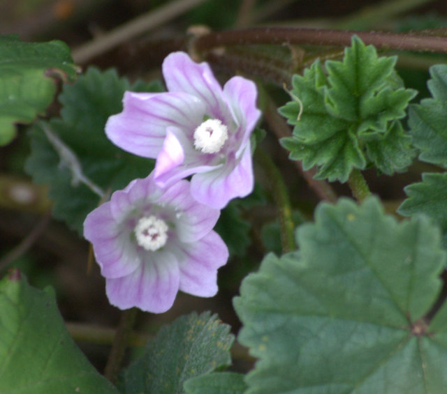
POLYGON ((228 248, 212 231, 196 243, 178 245, 180 285, 185 293, 212 297, 217 293, 217 268, 228 261, 228 248))

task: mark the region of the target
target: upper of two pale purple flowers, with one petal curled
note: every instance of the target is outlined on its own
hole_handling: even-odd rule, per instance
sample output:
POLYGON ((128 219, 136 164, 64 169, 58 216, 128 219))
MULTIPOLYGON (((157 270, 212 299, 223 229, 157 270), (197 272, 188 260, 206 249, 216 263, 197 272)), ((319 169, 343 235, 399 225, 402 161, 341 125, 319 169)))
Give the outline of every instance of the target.
POLYGON ((256 85, 233 77, 223 89, 207 63, 184 52, 163 61, 166 93, 124 94, 124 109, 110 116, 108 138, 125 151, 156 158, 162 186, 192 176, 191 194, 221 209, 254 185, 250 135, 261 116, 256 85))

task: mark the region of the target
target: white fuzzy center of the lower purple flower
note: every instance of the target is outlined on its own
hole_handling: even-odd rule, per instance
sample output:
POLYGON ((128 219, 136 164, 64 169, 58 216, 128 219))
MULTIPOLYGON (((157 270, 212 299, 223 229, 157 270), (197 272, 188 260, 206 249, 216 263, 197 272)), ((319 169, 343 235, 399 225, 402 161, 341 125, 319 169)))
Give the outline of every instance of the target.
POLYGON ((145 250, 159 250, 168 241, 168 225, 164 220, 156 218, 154 215, 145 216, 138 220, 133 231, 137 238, 138 245, 145 250))

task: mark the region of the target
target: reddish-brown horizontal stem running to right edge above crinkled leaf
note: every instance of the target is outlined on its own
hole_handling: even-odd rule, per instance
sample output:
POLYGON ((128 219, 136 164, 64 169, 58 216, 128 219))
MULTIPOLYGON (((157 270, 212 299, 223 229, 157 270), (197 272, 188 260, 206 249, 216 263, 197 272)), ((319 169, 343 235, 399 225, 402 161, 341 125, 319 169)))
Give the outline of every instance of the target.
POLYGON ((424 33, 383 33, 379 31, 346 31, 334 29, 305 29, 266 27, 221 31, 197 38, 197 51, 212 50, 214 47, 254 44, 296 44, 296 45, 351 45, 353 34, 365 44, 378 48, 411 50, 418 52, 447 53, 447 40, 424 33))

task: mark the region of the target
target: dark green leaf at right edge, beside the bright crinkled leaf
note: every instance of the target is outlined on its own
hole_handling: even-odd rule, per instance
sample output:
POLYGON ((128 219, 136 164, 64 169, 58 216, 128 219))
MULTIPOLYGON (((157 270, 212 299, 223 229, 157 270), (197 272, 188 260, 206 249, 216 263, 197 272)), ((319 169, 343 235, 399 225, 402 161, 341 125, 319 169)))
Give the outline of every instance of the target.
POLYGON ((427 86, 433 98, 410 106, 409 127, 421 151, 419 160, 447 168, 447 65, 432 66, 430 75, 427 86))

